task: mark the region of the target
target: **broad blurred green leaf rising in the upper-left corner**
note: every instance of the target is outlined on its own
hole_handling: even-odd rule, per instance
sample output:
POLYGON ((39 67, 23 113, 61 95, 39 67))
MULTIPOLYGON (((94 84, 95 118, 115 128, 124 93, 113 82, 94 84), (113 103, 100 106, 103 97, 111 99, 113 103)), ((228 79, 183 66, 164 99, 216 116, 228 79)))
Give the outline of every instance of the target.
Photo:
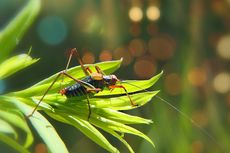
POLYGON ((40 3, 40 0, 29 0, 27 5, 0 32, 0 62, 7 58, 33 23, 40 10, 40 3))

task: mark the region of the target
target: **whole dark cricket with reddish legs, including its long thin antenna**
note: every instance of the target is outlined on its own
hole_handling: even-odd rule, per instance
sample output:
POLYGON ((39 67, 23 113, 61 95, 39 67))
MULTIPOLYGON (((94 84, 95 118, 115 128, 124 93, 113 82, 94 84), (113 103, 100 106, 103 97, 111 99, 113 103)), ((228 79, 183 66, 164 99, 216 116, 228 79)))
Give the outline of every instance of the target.
MULTIPOLYGON (((71 97, 77 97, 77 96, 86 96, 87 99, 87 105, 88 105, 88 116, 87 116, 87 120, 89 121, 90 119, 90 115, 91 115, 91 107, 90 107, 90 97, 89 95, 91 94, 96 94, 98 92, 103 91, 103 89, 107 88, 110 91, 112 91, 115 88, 121 88, 125 91, 126 96, 128 97, 129 101, 130 101, 130 105, 133 107, 138 106, 137 104, 135 104, 133 102, 133 100, 131 99, 129 93, 127 92, 126 88, 120 84, 120 83, 127 83, 129 85, 132 85, 136 88, 139 88, 143 91, 149 92, 149 90, 147 89, 142 89, 139 86, 133 85, 129 82, 126 81, 121 81, 117 78, 116 75, 111 74, 111 75, 106 75, 98 66, 94 66, 96 72, 93 72, 89 67, 85 67, 84 63, 77 51, 76 48, 72 48, 70 49, 70 54, 68 57, 68 61, 66 64, 66 67, 63 71, 59 72, 58 75, 56 76, 56 78, 53 80, 53 82, 50 84, 50 86, 47 88, 47 90, 44 92, 43 96, 41 97, 41 99, 39 100, 39 102, 36 104, 36 106, 34 107, 33 111, 31 112, 31 114, 29 114, 27 117, 31 117, 33 116, 34 112, 37 110, 37 108, 39 107, 40 103, 43 101, 44 97, 47 95, 47 93, 49 92, 49 90, 52 88, 52 86, 54 85, 54 83, 62 76, 62 77, 68 77, 72 80, 74 80, 76 83, 73 85, 69 85, 65 88, 62 88, 59 90, 59 94, 61 95, 65 95, 67 98, 71 98, 71 97), (73 58, 73 56, 75 56, 81 66, 82 71, 85 74, 85 78, 79 80, 74 78, 73 76, 69 75, 67 72, 67 69, 69 68, 69 64, 73 58), (119 85, 117 84, 119 83, 119 85)), ((63 79, 62 79, 63 81, 63 79)), ((207 131, 205 130, 203 127, 201 127, 196 121, 194 121, 191 117, 189 117, 187 114, 185 114, 184 112, 182 112, 181 110, 179 110, 177 107, 175 107, 174 105, 172 105, 170 102, 168 102, 167 100, 156 96, 156 98, 158 98, 160 101, 164 102, 166 105, 168 105, 169 107, 173 108, 176 112, 178 112, 180 115, 182 115, 182 117, 184 117, 185 119, 189 120, 191 122, 191 124, 193 124, 194 126, 196 126, 201 133, 203 133, 204 135, 206 135, 208 138, 210 138, 215 144, 217 144, 219 147, 219 143, 217 142, 217 140, 207 131)), ((221 148, 221 147, 220 147, 221 148)))

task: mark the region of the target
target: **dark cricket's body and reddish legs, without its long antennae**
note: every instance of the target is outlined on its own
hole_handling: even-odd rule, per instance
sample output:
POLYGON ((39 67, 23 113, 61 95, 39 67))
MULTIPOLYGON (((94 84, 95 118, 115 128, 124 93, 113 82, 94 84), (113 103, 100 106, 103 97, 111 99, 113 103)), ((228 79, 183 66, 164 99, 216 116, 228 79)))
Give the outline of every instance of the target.
POLYGON ((48 87, 48 89, 45 91, 45 93, 43 94, 43 96, 41 97, 41 99, 39 100, 39 102, 37 103, 37 105, 35 106, 35 108, 33 109, 33 111, 31 112, 30 115, 28 115, 28 117, 33 116, 34 112, 37 110, 38 106, 40 105, 40 103, 42 102, 42 100, 44 99, 44 97, 47 95, 47 93, 49 92, 49 90, 52 88, 52 86, 54 85, 54 83, 58 80, 58 78, 60 78, 61 76, 66 76, 69 77, 70 79, 74 80, 76 83, 70 86, 67 86, 63 89, 61 89, 59 91, 59 93, 61 95, 65 95, 67 98, 70 97, 75 97, 75 96, 83 96, 85 95, 87 98, 87 104, 88 104, 88 109, 89 109, 89 113, 88 113, 88 117, 87 120, 90 119, 90 115, 91 115, 91 108, 90 108, 90 99, 89 99, 89 94, 96 94, 100 91, 102 91, 104 88, 107 88, 109 90, 113 90, 115 88, 121 88, 125 91, 127 97, 129 98, 130 104, 135 107, 137 106, 137 104, 135 104, 131 97, 129 96, 126 88, 123 85, 117 85, 118 82, 121 82, 116 75, 111 74, 111 75, 106 75, 98 66, 95 66, 96 72, 93 72, 89 67, 85 67, 83 64, 83 61, 77 51, 76 48, 72 48, 70 49, 70 55, 68 58, 68 62, 66 65, 65 70, 61 71, 56 78, 54 79, 54 81, 50 84, 50 86, 48 87), (80 63, 81 69, 83 70, 83 72, 85 73, 85 78, 83 78, 82 80, 76 79, 73 76, 69 75, 67 72, 67 69, 69 67, 69 64, 73 58, 73 56, 76 56, 78 62, 80 63))

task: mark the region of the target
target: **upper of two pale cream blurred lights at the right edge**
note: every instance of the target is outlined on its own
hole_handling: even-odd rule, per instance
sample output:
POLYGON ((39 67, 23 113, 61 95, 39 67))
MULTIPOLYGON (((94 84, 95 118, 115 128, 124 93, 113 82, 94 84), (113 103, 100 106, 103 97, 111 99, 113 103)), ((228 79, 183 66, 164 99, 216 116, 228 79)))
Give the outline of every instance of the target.
POLYGON ((220 38, 217 44, 217 52, 221 58, 230 59, 230 35, 220 38))

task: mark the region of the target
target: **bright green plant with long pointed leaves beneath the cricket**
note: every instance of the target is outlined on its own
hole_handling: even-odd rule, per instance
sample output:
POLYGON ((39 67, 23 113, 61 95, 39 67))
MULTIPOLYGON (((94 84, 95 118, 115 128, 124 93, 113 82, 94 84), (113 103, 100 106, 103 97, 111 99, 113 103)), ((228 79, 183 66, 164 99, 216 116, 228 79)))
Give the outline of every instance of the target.
MULTIPOLYGON (((16 46, 15 40, 21 39, 23 33, 35 19, 39 8, 39 0, 29 1, 27 6, 15 19, 1 31, 0 79, 5 79, 38 61, 38 59, 32 59, 27 54, 17 55, 8 59, 7 57, 16 46)), ((92 67, 98 65, 106 74, 110 74, 117 70, 120 64, 121 60, 116 60, 87 66, 92 67)), ((84 77, 84 74, 80 69, 80 66, 76 66, 68 69, 67 72, 75 78, 81 79, 84 77)), ((127 80, 127 83, 123 83, 130 93, 131 98, 139 107, 149 102, 151 98, 159 92, 143 92, 143 89, 151 87, 160 78, 161 74, 162 73, 149 80, 127 80), (141 86, 141 88, 137 88, 136 86, 141 86)), ((0 95, 0 141, 19 152, 30 152, 28 148, 33 143, 33 134, 28 126, 26 116, 32 112, 34 106, 56 75, 57 74, 54 74, 25 90, 0 95), (19 135, 17 129, 23 131, 24 135, 19 135)), ((43 102, 39 105, 39 110, 44 111, 55 120, 76 127, 109 152, 119 151, 109 143, 97 128, 119 139, 130 152, 134 151, 124 139, 124 134, 126 133, 140 136, 154 146, 151 139, 145 134, 129 126, 130 124, 150 124, 152 121, 120 112, 120 110, 134 108, 130 105, 129 99, 124 95, 125 93, 123 91, 114 90, 110 92, 109 90, 104 90, 90 98, 92 114, 90 120, 87 121, 88 106, 86 98, 75 97, 67 99, 65 96, 61 96, 57 93, 60 88, 60 81, 61 79, 54 84, 43 102)), ((69 78, 64 78, 63 86, 73 83, 74 82, 69 78)), ((36 111, 28 120, 41 136, 50 152, 68 152, 54 127, 42 114, 36 111)))

